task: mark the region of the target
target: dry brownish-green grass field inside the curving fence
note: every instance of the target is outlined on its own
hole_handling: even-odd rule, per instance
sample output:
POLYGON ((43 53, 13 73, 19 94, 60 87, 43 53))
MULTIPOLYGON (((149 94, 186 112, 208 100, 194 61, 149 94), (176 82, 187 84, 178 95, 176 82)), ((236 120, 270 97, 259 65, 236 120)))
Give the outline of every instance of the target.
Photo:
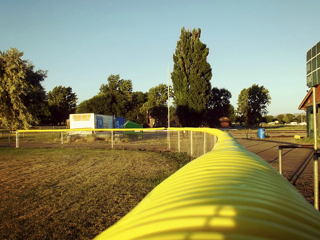
POLYGON ((0 239, 91 239, 185 159, 138 150, 1 148, 0 239))

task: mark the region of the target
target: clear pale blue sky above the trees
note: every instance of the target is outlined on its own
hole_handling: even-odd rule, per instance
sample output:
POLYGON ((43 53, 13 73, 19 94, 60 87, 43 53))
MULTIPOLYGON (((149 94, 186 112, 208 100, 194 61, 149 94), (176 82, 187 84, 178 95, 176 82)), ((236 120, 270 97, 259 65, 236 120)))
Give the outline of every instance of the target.
POLYGON ((201 28, 211 85, 228 89, 235 108, 256 83, 270 92, 268 114, 303 112, 306 52, 320 41, 318 0, 1 0, 0 9, 0 50, 23 51, 48 70, 46 91, 71 86, 79 102, 110 74, 134 91, 167 83, 184 26, 201 28))

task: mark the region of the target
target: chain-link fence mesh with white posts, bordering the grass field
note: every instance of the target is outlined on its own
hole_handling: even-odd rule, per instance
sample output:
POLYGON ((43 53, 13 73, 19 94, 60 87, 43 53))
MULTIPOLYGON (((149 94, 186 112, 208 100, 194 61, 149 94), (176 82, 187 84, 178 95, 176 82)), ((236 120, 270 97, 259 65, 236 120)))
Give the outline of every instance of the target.
POLYGON ((16 147, 116 148, 173 150, 198 157, 210 151, 217 138, 206 132, 143 129, 17 130, 16 147))

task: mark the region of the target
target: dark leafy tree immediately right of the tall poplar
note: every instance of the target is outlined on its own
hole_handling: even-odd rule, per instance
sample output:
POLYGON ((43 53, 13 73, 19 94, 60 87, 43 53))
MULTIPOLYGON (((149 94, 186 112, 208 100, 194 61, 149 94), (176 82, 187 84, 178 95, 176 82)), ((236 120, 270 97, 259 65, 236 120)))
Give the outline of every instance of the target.
POLYGON ((221 117, 229 117, 231 96, 231 92, 225 88, 212 87, 207 111, 207 120, 210 127, 219 126, 221 117))

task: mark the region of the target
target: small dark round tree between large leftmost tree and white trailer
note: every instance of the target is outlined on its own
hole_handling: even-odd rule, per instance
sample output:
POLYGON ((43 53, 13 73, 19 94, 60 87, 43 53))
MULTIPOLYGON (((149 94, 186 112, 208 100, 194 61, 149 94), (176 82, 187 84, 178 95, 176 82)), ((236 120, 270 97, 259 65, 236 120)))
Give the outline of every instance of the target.
POLYGON ((61 121, 69 118, 70 113, 75 112, 77 97, 70 86, 55 86, 47 94, 48 108, 51 113, 51 122, 61 124, 61 121))

